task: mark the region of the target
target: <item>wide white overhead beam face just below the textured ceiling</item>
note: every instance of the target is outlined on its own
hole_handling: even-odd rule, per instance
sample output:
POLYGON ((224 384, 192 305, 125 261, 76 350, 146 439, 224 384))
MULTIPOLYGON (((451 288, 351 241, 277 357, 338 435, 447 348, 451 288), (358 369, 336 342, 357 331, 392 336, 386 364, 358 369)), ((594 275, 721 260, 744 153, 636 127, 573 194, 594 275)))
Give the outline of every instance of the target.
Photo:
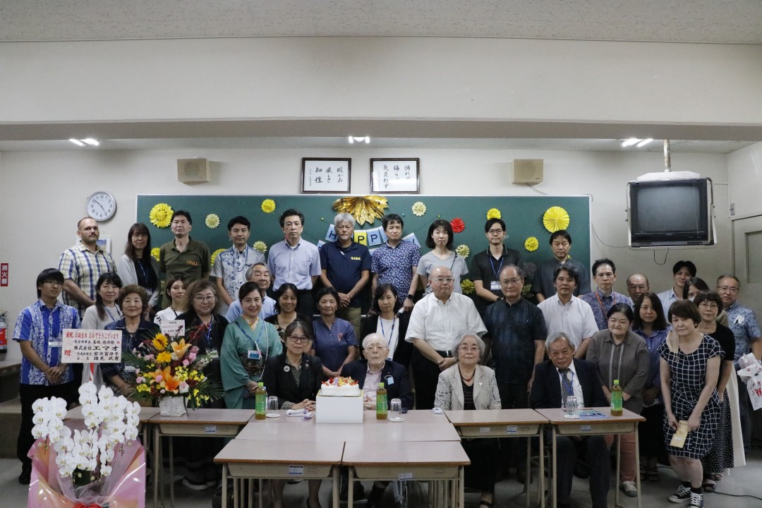
POLYGON ((470 118, 758 127, 762 113, 762 46, 274 37, 0 47, 0 123, 470 118))

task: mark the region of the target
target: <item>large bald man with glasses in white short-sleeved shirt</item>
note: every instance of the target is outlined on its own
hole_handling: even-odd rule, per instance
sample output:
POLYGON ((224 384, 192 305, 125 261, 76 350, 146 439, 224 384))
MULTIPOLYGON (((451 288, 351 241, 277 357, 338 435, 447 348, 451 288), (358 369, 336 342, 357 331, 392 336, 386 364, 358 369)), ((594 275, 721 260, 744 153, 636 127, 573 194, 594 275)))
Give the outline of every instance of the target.
MULTIPOLYGON (((447 267, 431 271, 431 293, 415 304, 405 340, 413 343, 411 359, 416 409, 434 407, 439 373, 455 365, 450 347, 466 332, 482 337, 487 331, 474 302, 453 292, 455 280, 447 267)), ((587 305, 587 304, 584 304, 587 305)))

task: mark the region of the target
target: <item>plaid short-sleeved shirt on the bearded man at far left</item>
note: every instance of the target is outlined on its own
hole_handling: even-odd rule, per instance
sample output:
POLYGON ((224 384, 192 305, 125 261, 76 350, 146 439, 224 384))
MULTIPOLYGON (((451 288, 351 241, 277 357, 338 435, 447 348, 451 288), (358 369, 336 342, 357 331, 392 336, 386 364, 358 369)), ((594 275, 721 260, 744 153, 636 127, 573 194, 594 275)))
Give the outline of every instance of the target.
MULTIPOLYGON (((92 252, 82 242, 77 242, 74 247, 61 253, 58 269, 63 273, 65 280, 74 281, 89 299, 94 300, 98 277, 101 276, 101 273, 117 273, 117 264, 114 263, 111 254, 100 247, 92 252)), ((62 292, 62 296, 66 305, 77 308, 79 315, 85 314, 87 305, 80 305, 66 291, 62 292)))

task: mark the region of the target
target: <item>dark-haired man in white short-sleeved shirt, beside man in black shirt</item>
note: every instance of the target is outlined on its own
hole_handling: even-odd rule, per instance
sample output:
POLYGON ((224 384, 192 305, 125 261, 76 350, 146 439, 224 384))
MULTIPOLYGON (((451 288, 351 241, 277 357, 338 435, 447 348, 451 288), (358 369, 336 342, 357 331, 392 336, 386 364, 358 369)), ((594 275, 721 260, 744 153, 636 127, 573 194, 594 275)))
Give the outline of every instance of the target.
POLYGON ((553 272, 555 295, 540 302, 537 308, 543 311, 548 336, 562 332, 575 347, 575 358, 584 359, 598 325, 590 305, 574 296, 578 280, 575 267, 559 265, 553 272))

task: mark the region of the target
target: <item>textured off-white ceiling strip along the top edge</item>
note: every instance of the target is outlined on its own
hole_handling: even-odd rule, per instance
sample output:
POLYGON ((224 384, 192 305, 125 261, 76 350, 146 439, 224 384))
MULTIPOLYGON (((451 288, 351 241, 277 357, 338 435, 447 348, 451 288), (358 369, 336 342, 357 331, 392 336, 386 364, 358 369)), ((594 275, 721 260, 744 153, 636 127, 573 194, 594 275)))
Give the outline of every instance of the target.
POLYGON ((0 41, 514 37, 762 43, 759 0, 0 0, 0 41))

